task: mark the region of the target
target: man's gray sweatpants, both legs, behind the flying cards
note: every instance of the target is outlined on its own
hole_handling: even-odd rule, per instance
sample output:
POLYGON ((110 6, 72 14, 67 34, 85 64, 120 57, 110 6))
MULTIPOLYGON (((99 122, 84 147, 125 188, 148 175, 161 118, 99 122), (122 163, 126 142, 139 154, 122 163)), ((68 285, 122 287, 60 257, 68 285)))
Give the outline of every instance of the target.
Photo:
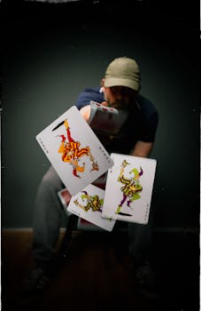
MULTIPOLYGON (((39 266, 50 262, 55 255, 61 221, 64 213, 66 214, 58 198, 58 191, 64 187, 57 172, 50 166, 43 176, 35 198, 33 252, 35 262, 39 266)), ((150 251, 151 227, 151 218, 145 226, 128 223, 130 255, 141 257, 150 251)))

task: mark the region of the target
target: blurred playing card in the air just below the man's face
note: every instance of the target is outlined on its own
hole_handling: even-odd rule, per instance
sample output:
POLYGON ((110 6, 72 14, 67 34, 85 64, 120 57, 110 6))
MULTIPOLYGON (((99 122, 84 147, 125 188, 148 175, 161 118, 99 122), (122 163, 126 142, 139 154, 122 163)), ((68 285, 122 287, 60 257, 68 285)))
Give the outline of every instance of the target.
POLYGON ((128 117, 125 110, 106 107, 90 101, 89 124, 98 133, 117 134, 128 117))

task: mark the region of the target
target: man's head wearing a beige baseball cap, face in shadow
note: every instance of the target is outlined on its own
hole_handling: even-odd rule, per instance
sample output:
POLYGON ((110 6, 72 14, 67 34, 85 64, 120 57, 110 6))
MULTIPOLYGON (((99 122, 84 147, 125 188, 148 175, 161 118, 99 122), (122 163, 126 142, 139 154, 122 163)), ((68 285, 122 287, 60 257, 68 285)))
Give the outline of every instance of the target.
POLYGON ((128 108, 140 90, 140 70, 135 60, 112 60, 103 79, 104 98, 114 108, 128 108))

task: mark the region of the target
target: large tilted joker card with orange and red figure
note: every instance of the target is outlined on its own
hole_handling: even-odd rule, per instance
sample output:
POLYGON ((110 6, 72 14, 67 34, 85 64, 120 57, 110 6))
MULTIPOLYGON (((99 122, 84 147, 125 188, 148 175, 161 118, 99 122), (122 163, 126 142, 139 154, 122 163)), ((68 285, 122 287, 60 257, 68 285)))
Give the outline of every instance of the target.
POLYGON ((75 106, 36 135, 36 140, 71 195, 87 187, 113 165, 75 106))

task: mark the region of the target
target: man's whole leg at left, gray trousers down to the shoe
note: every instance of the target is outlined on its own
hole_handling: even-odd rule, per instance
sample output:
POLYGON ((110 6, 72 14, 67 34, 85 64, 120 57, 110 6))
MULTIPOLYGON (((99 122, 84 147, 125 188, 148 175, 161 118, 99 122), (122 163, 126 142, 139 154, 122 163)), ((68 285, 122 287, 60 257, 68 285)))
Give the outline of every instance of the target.
POLYGON ((35 197, 33 223, 35 268, 23 280, 19 292, 20 307, 35 303, 50 281, 62 215, 65 213, 58 198, 58 191, 64 187, 58 174, 50 166, 43 176, 35 197))

